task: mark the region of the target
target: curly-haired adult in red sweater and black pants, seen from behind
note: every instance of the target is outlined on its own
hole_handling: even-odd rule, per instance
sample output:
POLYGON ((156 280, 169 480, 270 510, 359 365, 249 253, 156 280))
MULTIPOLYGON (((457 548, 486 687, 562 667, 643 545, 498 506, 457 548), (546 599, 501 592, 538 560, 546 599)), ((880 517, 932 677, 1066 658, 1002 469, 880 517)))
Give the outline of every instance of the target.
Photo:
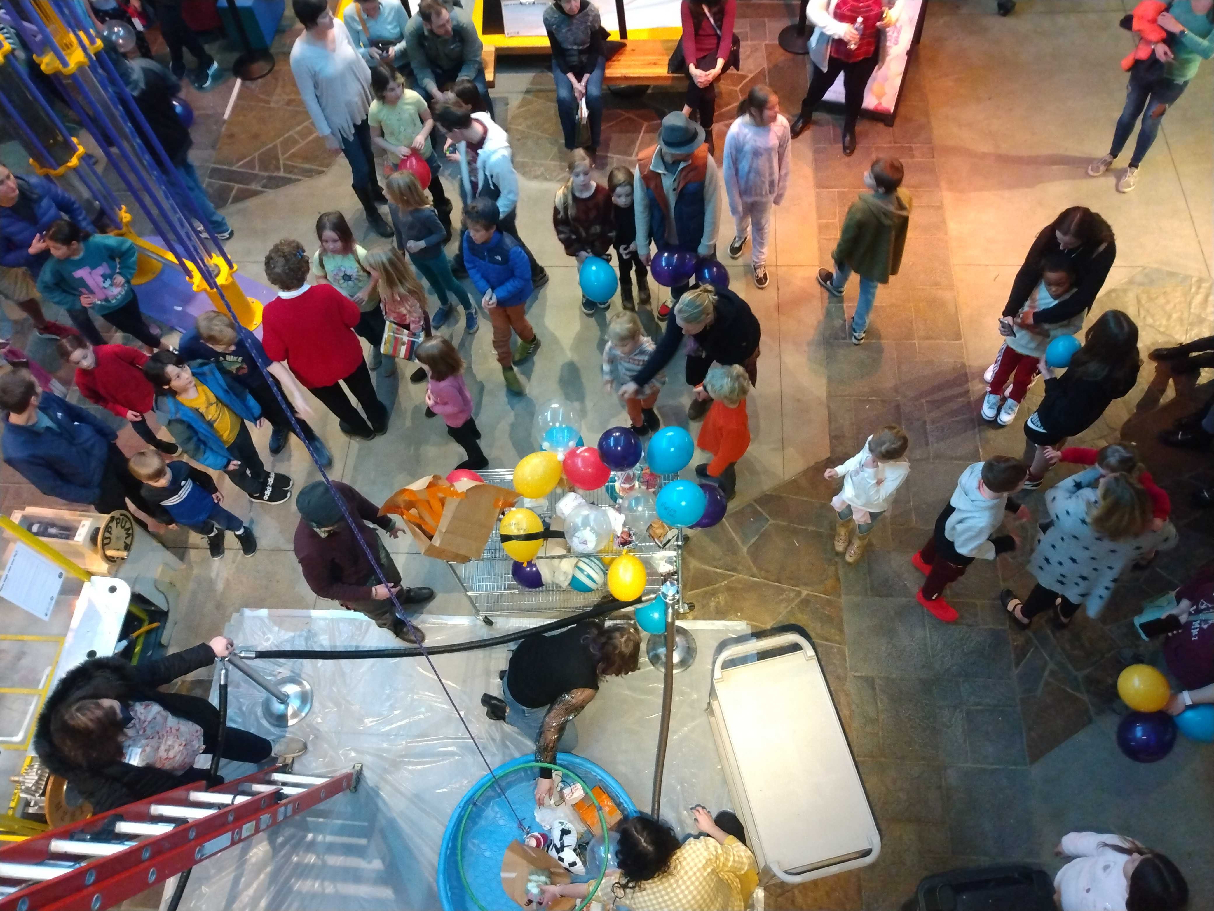
POLYGON ((299 241, 279 241, 266 254, 266 278, 279 294, 266 305, 261 344, 271 361, 285 361, 300 383, 337 415, 346 436, 371 440, 387 430, 387 408, 375 396, 363 347, 354 334, 357 305, 330 284, 307 283, 311 262, 299 241), (341 384, 353 392, 364 419, 341 384))

